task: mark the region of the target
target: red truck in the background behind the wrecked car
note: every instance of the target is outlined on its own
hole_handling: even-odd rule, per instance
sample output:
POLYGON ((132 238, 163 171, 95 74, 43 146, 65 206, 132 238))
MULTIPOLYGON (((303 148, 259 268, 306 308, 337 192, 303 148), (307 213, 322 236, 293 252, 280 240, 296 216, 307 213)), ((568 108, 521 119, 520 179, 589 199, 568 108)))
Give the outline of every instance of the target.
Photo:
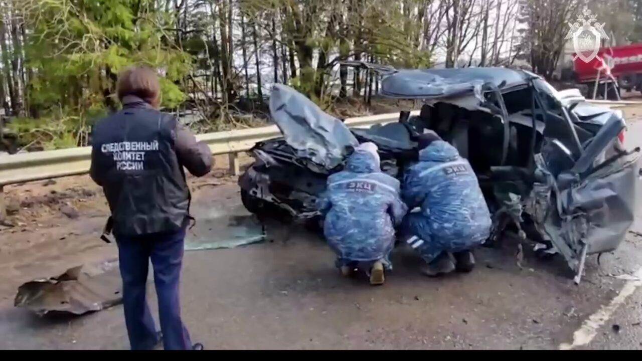
MULTIPOLYGON (((573 57, 575 57, 573 53, 573 57)), ((575 82, 589 87, 587 98, 593 98, 596 77, 600 71, 598 96, 603 96, 604 86, 609 83, 609 71, 618 80, 620 89, 642 91, 642 44, 630 44, 601 48, 590 62, 581 58, 573 60, 573 78, 575 82), (605 66, 605 64, 607 66, 605 66)), ((614 89, 609 87, 608 98, 614 98, 614 89)))

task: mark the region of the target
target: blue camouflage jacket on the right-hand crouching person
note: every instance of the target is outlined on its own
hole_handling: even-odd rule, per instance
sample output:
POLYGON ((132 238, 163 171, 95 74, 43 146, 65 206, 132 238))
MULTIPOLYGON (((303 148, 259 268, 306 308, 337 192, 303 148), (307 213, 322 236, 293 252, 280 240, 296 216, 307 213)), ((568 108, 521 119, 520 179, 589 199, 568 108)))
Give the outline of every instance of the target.
POLYGON ((481 243, 489 236, 490 212, 468 161, 446 141, 434 141, 419 152, 419 163, 404 175, 406 205, 421 207, 425 239, 481 243))

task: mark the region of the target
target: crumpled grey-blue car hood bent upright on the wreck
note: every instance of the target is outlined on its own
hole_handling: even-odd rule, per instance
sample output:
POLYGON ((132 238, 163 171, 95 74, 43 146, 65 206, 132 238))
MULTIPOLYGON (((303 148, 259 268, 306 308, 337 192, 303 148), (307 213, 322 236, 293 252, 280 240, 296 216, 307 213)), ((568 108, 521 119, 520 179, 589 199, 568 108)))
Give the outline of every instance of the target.
POLYGON ((270 114, 298 157, 328 170, 341 164, 352 148, 359 145, 342 121, 286 85, 273 85, 270 114))

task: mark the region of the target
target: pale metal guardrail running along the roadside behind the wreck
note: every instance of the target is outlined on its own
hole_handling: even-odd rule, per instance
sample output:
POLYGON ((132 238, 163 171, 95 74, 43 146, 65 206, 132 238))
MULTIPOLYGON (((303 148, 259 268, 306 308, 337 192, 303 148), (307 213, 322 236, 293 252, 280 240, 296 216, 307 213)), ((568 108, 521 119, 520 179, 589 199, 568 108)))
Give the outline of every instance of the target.
MULTIPOLYGON (((642 106, 642 102, 633 101, 588 101, 609 107, 623 109, 632 105, 642 106)), ((412 115, 419 114, 415 110, 412 115)), ((626 116, 627 114, 625 114, 626 116)), ((352 128, 370 127, 377 123, 389 123, 399 119, 398 113, 379 114, 345 119, 345 124, 352 128)), ((200 134, 199 141, 205 141, 214 155, 229 154, 230 172, 239 173, 238 153, 252 148, 257 141, 264 141, 281 136, 279 128, 270 127, 229 130, 200 134)), ((0 220, 3 219, 5 206, 3 188, 8 184, 17 184, 35 180, 82 175, 89 172, 91 147, 51 150, 0 157, 0 220)))

